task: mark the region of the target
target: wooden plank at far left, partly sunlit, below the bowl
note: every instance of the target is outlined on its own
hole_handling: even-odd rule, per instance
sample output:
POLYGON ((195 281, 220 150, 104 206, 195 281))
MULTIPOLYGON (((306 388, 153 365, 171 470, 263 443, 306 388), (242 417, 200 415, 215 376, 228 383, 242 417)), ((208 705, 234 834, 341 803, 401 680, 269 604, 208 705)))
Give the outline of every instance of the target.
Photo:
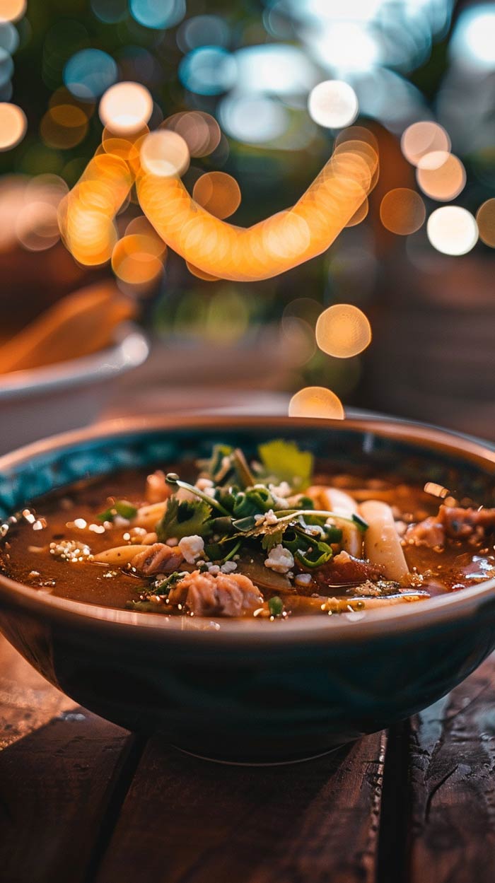
POLYGON ((2 883, 85 879, 130 746, 0 638, 2 883))

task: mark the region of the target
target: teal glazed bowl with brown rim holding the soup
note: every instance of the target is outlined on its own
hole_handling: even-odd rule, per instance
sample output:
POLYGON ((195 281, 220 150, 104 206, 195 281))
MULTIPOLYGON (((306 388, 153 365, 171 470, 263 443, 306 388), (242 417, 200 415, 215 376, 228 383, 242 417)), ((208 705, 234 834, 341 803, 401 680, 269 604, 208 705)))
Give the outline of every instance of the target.
MULTIPOLYGON (((0 459, 0 520, 40 494, 125 467, 255 453, 293 439, 331 467, 391 465, 492 504, 495 449, 397 419, 118 420, 0 459)), ((110 721, 206 758, 308 758, 406 718, 495 647, 495 580, 421 605, 283 623, 165 618, 40 594, 0 576, 0 630, 50 683, 110 721)))

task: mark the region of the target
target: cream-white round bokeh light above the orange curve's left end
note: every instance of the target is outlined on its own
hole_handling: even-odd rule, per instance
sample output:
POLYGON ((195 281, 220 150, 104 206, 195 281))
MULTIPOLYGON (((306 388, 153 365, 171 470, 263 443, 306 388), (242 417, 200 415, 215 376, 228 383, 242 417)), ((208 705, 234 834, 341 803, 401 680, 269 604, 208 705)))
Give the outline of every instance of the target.
POLYGON ((139 83, 123 82, 111 86, 100 102, 99 114, 104 126, 116 134, 139 132, 153 112, 153 99, 139 83))

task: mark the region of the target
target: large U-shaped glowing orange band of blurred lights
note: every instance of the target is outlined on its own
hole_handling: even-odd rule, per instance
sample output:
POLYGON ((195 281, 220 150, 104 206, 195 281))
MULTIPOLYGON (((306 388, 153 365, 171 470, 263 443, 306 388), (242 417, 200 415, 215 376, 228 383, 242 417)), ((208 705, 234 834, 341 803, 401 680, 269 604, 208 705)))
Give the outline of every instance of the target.
POLYGON ((137 192, 166 244, 195 268, 207 275, 253 282, 324 252, 362 206, 376 170, 377 154, 369 144, 339 145, 293 208, 247 230, 209 214, 177 176, 158 177, 144 169, 137 192))

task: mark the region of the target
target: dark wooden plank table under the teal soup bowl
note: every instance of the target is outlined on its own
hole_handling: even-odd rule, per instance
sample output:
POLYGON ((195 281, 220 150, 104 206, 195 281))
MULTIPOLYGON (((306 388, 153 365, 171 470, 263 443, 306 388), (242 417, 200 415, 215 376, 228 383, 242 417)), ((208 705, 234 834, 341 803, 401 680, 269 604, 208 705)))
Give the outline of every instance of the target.
POLYGON ((393 728, 293 766, 141 741, 0 638, 2 883, 493 883, 495 658, 393 728))

